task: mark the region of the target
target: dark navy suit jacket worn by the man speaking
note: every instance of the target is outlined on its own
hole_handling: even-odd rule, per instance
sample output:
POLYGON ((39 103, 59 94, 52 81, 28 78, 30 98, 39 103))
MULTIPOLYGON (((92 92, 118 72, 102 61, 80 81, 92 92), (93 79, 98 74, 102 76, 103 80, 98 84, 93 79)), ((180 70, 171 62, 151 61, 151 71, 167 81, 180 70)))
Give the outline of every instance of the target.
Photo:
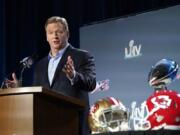
POLYGON ((92 91, 96 86, 94 58, 87 51, 73 48, 71 45, 68 46, 57 66, 51 86, 48 81, 48 62, 49 60, 47 56, 37 63, 34 72, 34 85, 43 86, 45 88, 61 92, 64 95, 85 100, 87 107, 80 113, 80 132, 81 135, 88 135, 88 92, 92 91), (74 67, 77 72, 73 85, 71 85, 70 80, 62 71, 68 56, 72 57, 74 67))

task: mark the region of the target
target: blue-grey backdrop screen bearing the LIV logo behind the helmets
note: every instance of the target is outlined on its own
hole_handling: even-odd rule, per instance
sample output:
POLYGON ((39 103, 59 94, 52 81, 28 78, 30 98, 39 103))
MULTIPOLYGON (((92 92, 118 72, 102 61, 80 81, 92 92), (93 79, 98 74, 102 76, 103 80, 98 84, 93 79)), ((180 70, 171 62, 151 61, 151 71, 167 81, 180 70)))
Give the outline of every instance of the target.
MULTIPOLYGON (((151 66, 163 58, 180 65, 180 6, 136 14, 81 27, 81 48, 96 60, 97 80, 109 79, 108 91, 90 94, 91 105, 113 96, 126 106, 141 103, 153 92, 151 66)), ((180 92, 179 80, 168 86, 180 92)))

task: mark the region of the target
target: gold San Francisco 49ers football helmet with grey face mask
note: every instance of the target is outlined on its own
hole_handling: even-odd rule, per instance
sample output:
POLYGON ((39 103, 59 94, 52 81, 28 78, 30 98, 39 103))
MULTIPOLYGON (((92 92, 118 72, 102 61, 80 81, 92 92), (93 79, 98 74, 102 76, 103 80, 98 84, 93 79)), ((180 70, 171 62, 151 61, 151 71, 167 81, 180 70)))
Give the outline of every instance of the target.
POLYGON ((96 101, 89 111, 88 122, 92 134, 129 129, 126 107, 114 97, 96 101))

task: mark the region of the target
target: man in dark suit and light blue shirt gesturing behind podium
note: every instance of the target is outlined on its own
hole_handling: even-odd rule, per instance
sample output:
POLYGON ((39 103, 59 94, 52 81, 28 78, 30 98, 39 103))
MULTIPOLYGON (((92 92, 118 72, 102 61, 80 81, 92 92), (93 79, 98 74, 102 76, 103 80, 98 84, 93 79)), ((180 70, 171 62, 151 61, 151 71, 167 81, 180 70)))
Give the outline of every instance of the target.
MULTIPOLYGON (((96 86, 94 58, 87 51, 76 49, 68 43, 69 29, 65 18, 50 17, 45 30, 50 52, 35 67, 34 85, 85 100, 87 107, 80 113, 80 134, 88 135, 88 92, 96 86)), ((15 74, 12 77, 8 85, 17 83, 15 74)))

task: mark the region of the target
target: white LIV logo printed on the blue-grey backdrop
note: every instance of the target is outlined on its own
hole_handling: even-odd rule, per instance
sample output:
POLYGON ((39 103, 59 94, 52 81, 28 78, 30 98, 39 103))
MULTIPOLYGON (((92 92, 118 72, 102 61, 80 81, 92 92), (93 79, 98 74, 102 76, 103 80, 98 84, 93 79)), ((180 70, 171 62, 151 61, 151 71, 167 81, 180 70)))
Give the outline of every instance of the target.
POLYGON ((135 45, 134 40, 130 40, 129 47, 125 47, 124 59, 135 58, 141 55, 141 44, 135 45))

